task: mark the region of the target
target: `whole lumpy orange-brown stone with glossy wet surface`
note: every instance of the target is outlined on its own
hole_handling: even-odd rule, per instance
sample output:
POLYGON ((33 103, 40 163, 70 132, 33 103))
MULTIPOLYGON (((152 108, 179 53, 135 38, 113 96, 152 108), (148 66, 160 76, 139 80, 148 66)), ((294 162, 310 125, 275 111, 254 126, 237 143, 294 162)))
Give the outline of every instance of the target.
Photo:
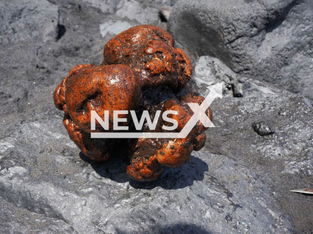
MULTIPOLYGON (((64 110, 64 126, 69 137, 83 154, 96 161, 106 161, 125 148, 131 164, 127 174, 134 180, 150 181, 161 176, 162 166, 180 167, 188 162, 193 150, 200 150, 206 139, 200 121, 186 138, 96 139, 92 132, 113 132, 113 111, 128 111, 119 115, 127 121, 128 132, 136 131, 130 111, 138 120, 148 111, 152 120, 160 111, 156 129, 144 122, 143 132, 180 132, 194 114, 187 103, 198 103, 203 97, 194 96, 186 86, 191 78, 191 63, 186 54, 174 48, 174 39, 161 28, 142 25, 130 28, 111 39, 104 47, 100 66, 80 64, 70 70, 54 93, 55 106, 64 110), (164 130, 172 123, 165 121, 165 111, 176 111, 175 130, 164 130), (109 113, 109 128, 95 121, 91 130, 91 111, 104 119, 109 113)), ((206 115, 212 120, 211 110, 206 115)), ((116 132, 116 131, 115 131, 116 132)))

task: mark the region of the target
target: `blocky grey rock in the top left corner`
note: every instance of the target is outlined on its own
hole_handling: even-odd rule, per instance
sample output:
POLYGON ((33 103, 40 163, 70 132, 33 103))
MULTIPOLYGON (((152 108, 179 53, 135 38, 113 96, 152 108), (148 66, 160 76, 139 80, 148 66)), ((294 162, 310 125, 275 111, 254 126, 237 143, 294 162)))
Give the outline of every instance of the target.
POLYGON ((58 6, 47 0, 0 1, 0 44, 57 39, 58 6))

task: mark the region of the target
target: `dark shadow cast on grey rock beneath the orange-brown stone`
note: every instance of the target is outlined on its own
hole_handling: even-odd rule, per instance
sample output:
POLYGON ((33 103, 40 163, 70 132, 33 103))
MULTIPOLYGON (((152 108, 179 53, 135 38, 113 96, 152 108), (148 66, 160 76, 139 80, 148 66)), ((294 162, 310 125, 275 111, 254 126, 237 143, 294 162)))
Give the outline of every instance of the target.
POLYGON ((94 171, 102 177, 112 179, 118 183, 129 184, 136 189, 154 189, 161 187, 163 189, 181 189, 193 185, 194 181, 201 181, 204 178, 204 172, 209 170, 208 165, 200 158, 191 156, 189 161, 179 168, 163 167, 162 176, 150 182, 138 182, 129 178, 126 174, 126 167, 129 164, 127 158, 116 156, 110 158, 107 162, 99 163, 85 156, 82 152, 80 158, 90 163, 94 171))

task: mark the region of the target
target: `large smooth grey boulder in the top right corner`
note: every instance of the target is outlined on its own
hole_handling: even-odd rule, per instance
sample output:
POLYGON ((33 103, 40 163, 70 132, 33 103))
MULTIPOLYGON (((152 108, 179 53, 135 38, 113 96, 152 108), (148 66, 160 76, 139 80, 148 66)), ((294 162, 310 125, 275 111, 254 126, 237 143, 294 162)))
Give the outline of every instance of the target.
POLYGON ((180 0, 168 28, 193 59, 313 99, 312 21, 311 0, 180 0))

